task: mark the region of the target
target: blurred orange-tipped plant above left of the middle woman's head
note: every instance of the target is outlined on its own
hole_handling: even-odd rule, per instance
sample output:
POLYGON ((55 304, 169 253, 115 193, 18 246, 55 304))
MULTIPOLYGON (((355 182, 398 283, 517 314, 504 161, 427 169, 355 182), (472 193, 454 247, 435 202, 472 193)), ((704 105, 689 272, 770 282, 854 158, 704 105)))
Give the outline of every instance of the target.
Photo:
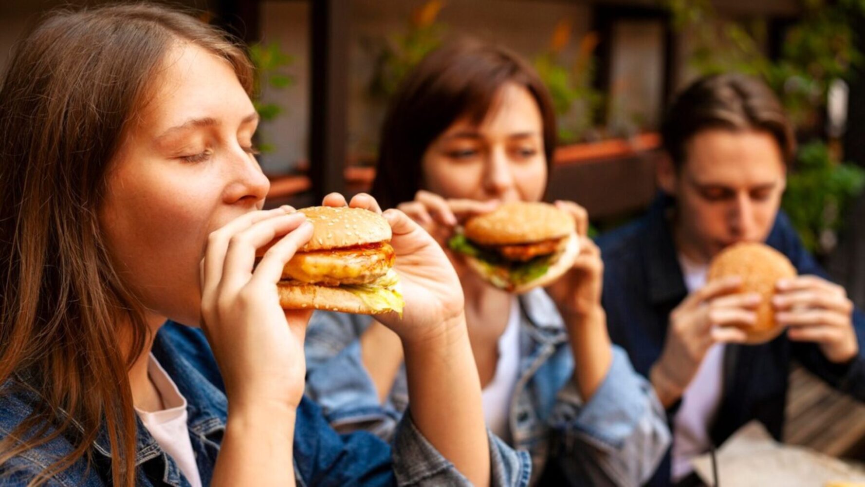
POLYGON ((369 93, 389 99, 413 67, 442 42, 447 27, 439 22, 442 0, 429 0, 415 8, 405 32, 389 36, 378 48, 369 93))

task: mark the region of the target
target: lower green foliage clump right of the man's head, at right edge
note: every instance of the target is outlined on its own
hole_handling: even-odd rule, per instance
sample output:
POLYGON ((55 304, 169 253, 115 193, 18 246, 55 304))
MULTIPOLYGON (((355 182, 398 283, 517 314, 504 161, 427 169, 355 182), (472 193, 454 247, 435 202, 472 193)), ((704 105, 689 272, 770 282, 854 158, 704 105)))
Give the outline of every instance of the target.
POLYGON ((804 246, 826 254, 835 247, 850 203, 865 188, 865 170, 840 163, 823 142, 803 145, 782 200, 804 246))

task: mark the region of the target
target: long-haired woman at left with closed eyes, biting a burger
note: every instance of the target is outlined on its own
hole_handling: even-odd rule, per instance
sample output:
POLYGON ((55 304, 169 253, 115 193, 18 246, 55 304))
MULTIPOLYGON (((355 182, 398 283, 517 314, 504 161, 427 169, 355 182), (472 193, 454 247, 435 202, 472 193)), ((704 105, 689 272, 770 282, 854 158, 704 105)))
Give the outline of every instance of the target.
POLYGON ((524 483, 484 430, 456 275, 400 212, 383 215, 406 311, 380 321, 419 402, 392 449, 303 398, 309 313, 283 311, 276 282, 311 224, 261 210, 251 76, 221 32, 146 4, 54 13, 18 44, 0 86, 0 484, 524 483))

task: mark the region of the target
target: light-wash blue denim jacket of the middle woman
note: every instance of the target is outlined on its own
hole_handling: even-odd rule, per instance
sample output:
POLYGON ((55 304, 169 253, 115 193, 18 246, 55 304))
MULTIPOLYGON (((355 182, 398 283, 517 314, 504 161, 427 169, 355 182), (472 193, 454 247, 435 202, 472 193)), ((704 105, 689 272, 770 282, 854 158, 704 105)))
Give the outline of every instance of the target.
MULTIPOLYGON (((588 403, 573 381, 573 356, 561 315, 541 290, 520 299, 520 374, 511 399, 513 445, 531 454, 533 482, 637 485, 670 442, 650 385, 613 349, 605 380, 588 403)), ((367 317, 316 312, 306 337, 306 391, 337 430, 364 429, 383 439, 407 407, 405 370, 384 405, 363 367, 360 342, 367 317)), ((444 406, 446 407, 446 405, 444 406)))

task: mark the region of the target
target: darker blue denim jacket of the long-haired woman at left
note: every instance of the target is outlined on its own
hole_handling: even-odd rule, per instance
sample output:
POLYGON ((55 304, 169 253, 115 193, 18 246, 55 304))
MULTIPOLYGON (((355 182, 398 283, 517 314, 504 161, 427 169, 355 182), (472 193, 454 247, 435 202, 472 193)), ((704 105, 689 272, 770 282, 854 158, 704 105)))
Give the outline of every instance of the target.
MULTIPOLYGON (((202 484, 213 475, 227 420, 227 400, 219 370, 201 330, 168 323, 159 331, 153 354, 186 397, 189 439, 202 484)), ((0 388, 0 439, 33 410, 39 400, 28 388, 25 374, 0 388)), ((0 485, 23 486, 38 471, 72 452, 67 439, 54 439, 0 465, 0 485)), ((104 432, 93 445, 93 465, 79 461, 53 477, 50 486, 83 487, 111 484, 111 447, 104 432)), ((529 470, 522 458, 500 440, 490 438, 493 484, 525 485, 529 470)), ((290 461, 285 458, 285 461, 290 461)), ((189 482, 138 423, 136 485, 188 487, 189 482)), ((369 433, 340 435, 324 420, 321 410, 304 398, 298 407, 294 439, 294 471, 298 485, 454 485, 469 482, 413 426, 402 420, 392 445, 369 433)))

